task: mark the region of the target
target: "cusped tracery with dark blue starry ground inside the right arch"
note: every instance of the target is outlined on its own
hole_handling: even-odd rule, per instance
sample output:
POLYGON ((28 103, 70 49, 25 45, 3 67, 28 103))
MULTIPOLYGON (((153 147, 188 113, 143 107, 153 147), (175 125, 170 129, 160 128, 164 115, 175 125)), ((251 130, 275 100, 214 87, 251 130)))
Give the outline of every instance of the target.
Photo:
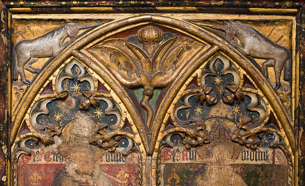
POLYGON ((232 140, 240 144, 256 148, 262 136, 271 134, 275 136, 272 145, 285 149, 285 143, 279 140, 282 139, 279 126, 273 114, 273 120, 267 115, 270 110, 264 100, 255 88, 242 87, 242 84, 238 68, 224 55, 217 54, 202 70, 202 88, 185 90, 174 107, 174 120, 170 127, 165 127, 163 132, 168 134, 161 145, 172 146, 173 134, 179 134, 187 148, 208 143, 210 136, 204 121, 220 117, 236 123, 236 128, 231 129, 232 140))

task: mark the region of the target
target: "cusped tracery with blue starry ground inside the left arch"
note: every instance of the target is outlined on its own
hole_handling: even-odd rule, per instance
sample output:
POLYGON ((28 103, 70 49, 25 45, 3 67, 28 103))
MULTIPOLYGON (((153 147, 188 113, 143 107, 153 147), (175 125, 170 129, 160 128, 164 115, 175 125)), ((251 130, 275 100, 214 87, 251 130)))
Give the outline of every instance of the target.
POLYGON ((132 129, 118 131, 123 122, 120 107, 109 98, 108 93, 95 92, 93 76, 80 62, 73 59, 65 65, 56 77, 55 87, 56 97, 40 99, 34 103, 29 115, 30 128, 34 131, 20 136, 23 138, 13 151, 15 161, 20 153, 30 153, 28 141, 34 144, 38 140, 44 144, 53 143, 54 136, 60 135, 62 129, 79 114, 86 114, 96 122, 88 143, 114 151, 118 141, 125 138, 128 143, 125 144, 123 153, 138 151, 137 145, 131 140, 134 136, 132 129))

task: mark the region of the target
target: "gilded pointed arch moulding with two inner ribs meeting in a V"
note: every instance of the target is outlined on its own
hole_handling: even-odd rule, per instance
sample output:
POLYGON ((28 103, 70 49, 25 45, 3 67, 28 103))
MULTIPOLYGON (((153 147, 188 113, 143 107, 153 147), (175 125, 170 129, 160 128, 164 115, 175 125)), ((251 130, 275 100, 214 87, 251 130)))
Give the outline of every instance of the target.
MULTIPOLYGON (((90 32, 84 34, 80 38, 78 38, 74 43, 72 43, 59 55, 57 55, 52 61, 50 61, 45 66, 45 69, 48 69, 48 71, 43 71, 38 74, 38 76, 33 80, 32 84, 28 87, 27 91, 24 93, 23 100, 20 102, 20 104, 17 106, 15 110, 16 117, 12 123, 11 141, 10 141, 11 144, 14 143, 21 122, 27 110, 29 109, 31 102, 33 102, 35 95, 38 94, 39 90, 41 90, 42 86, 45 84, 48 78, 52 76, 52 74, 56 71, 56 69, 59 68, 59 66, 68 58, 74 56, 84 61, 86 65, 94 69, 95 72, 97 72, 97 75, 104 78, 105 81, 109 84, 109 86, 111 86, 113 91, 115 91, 117 95, 120 95, 123 98, 122 102, 126 105, 128 112, 132 113, 131 117, 134 120, 139 133, 141 134, 142 142, 146 147, 146 152, 148 154, 152 154, 152 151, 154 150, 154 144, 156 143, 157 140, 157 136, 158 136, 157 134, 160 130, 160 126, 162 125, 160 121, 163 121, 163 118, 165 117, 165 112, 160 112, 155 117, 155 121, 158 121, 159 119, 160 120, 159 122, 153 123, 151 130, 152 131, 151 139, 149 140, 147 137, 145 137, 147 136, 147 132, 145 131, 143 124, 139 119, 140 116, 136 112, 133 103, 128 99, 124 99, 128 97, 128 94, 120 86, 120 82, 112 75, 112 73, 110 73, 107 70, 107 68, 103 64, 98 64, 94 62, 93 60, 88 58, 88 56, 80 52, 80 50, 83 49, 84 47, 87 48, 93 46, 94 44, 98 43, 102 39, 109 37, 110 35, 113 35, 115 33, 130 28, 135 28, 140 25, 151 24, 151 23, 161 25, 166 28, 174 29, 178 32, 188 35, 189 37, 195 40, 209 43, 210 48, 207 49, 206 53, 203 56, 198 56, 198 61, 206 60, 209 56, 215 54, 219 50, 228 54, 228 56, 232 58, 235 61, 235 63, 237 63, 242 69, 245 70, 245 72, 255 82, 258 88, 264 93, 271 107, 274 109, 275 114, 277 115, 278 120, 280 121, 283 129, 285 130, 292 151, 294 151, 295 140, 293 137, 294 135, 291 125, 292 119, 289 116, 287 110, 285 109, 283 103, 279 101, 278 97, 276 97, 277 94, 272 88, 271 84, 264 78, 264 76, 260 73, 259 69, 257 69, 251 63, 251 61, 249 61, 243 54, 241 54, 233 46, 228 44, 224 39, 217 37, 216 35, 206 31, 205 29, 199 26, 190 24, 185 21, 176 20, 169 17, 156 16, 156 15, 141 15, 136 17, 130 17, 123 20, 109 22, 108 24, 103 24, 91 30, 90 32)), ((202 64, 202 63, 198 63, 198 61, 194 60, 192 64, 185 65, 185 67, 182 68, 180 72, 180 74, 183 73, 183 76, 181 76, 179 79, 176 78, 170 84, 169 89, 172 89, 173 86, 182 86, 185 80, 187 80, 188 77, 196 69, 199 68, 200 64, 202 64)), ((173 99, 177 93, 178 93, 178 89, 176 89, 176 91, 170 91, 170 93, 167 94, 166 97, 164 97, 164 100, 167 99, 168 101, 168 99, 173 99)), ((167 110, 169 106, 170 106, 170 101, 164 103, 162 105, 163 110, 167 110)))

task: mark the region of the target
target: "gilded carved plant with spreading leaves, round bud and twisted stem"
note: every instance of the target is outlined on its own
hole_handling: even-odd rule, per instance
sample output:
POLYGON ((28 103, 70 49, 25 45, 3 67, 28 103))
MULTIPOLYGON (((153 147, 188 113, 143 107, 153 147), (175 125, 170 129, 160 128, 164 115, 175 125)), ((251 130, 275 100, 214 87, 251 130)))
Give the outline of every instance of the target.
POLYGON ((144 87, 140 104, 147 112, 149 128, 154 113, 149 105, 153 90, 167 87, 185 62, 204 46, 172 33, 165 36, 162 29, 146 26, 136 36, 107 39, 91 47, 89 52, 115 73, 124 86, 144 87))

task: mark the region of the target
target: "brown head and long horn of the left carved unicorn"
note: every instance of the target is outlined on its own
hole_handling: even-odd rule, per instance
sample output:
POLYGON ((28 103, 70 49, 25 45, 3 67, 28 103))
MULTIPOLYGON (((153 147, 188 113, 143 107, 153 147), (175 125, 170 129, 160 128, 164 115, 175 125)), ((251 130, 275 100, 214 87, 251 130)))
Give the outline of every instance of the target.
POLYGON ((93 24, 76 24, 71 20, 66 20, 67 24, 65 25, 66 34, 70 38, 70 41, 73 42, 76 39, 77 33, 81 29, 95 27, 97 25, 101 25, 100 23, 93 23, 93 24))

